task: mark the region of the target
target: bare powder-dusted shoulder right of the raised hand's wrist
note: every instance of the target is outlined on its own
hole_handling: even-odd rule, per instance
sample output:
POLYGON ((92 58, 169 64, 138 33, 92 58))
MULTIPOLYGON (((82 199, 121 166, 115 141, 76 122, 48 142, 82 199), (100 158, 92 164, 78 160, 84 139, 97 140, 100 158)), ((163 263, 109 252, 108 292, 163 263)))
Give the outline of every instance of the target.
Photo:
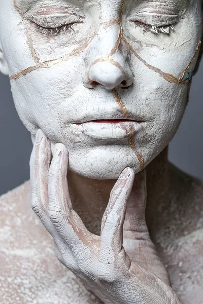
POLYGON ((171 166, 164 262, 183 304, 203 302, 203 182, 171 166))

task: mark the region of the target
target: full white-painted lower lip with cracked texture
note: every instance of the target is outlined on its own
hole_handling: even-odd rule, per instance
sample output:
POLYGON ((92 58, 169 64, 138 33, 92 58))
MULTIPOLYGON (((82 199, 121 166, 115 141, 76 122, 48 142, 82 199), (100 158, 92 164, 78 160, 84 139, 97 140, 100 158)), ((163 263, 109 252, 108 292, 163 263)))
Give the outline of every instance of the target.
POLYGON ((121 139, 138 132, 144 122, 130 120, 97 120, 79 125, 81 132, 95 139, 121 139))

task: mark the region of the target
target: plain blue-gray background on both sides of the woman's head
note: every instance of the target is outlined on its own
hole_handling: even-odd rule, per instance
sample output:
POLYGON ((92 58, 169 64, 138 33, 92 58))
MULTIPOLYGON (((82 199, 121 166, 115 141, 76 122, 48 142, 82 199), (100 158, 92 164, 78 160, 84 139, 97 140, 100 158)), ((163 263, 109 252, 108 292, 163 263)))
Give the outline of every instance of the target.
MULTIPOLYGON (((170 144, 170 160, 183 171, 203 179, 202 102, 203 61, 193 78, 190 102, 170 144)), ((9 79, 0 74, 0 195, 29 179, 31 139, 14 107, 9 79)))

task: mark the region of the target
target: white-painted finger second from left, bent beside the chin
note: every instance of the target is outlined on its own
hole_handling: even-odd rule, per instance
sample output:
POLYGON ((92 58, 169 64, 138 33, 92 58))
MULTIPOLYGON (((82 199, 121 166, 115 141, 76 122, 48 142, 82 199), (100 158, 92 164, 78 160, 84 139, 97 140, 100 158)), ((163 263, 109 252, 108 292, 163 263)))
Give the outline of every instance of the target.
POLYGON ((68 151, 62 143, 54 148, 48 178, 49 218, 59 235, 73 246, 88 245, 90 233, 79 215, 73 210, 67 185, 68 151))

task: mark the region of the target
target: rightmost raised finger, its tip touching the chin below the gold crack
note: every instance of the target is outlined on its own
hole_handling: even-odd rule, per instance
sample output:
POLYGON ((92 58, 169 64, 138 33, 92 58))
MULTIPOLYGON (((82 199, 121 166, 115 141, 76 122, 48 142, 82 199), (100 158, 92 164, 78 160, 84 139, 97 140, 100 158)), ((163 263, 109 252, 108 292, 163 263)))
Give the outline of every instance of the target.
POLYGON ((123 222, 133 180, 133 170, 125 168, 112 189, 101 224, 101 258, 113 258, 114 254, 119 254, 122 249, 123 222))

